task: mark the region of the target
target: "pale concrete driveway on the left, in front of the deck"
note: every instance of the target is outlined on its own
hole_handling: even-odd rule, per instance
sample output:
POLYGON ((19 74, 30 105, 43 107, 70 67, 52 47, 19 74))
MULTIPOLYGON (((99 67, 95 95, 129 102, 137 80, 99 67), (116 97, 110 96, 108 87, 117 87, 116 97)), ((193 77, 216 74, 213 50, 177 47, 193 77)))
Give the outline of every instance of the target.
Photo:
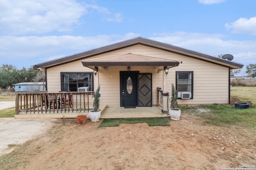
MULTIPOLYGON (((14 106, 15 102, 0 102, 0 109, 14 106)), ((20 145, 45 133, 56 120, 0 118, 0 155, 12 152, 10 144, 20 145)))

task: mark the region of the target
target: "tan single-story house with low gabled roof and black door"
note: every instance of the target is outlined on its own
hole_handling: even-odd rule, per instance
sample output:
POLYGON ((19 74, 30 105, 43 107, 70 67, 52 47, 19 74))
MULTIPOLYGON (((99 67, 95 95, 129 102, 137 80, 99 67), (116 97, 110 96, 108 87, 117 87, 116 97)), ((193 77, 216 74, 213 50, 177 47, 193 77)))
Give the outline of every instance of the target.
POLYGON ((107 107, 158 105, 168 111, 171 84, 180 105, 229 104, 230 70, 243 64, 137 37, 60 59, 36 64, 46 72, 48 92, 95 91, 107 107))

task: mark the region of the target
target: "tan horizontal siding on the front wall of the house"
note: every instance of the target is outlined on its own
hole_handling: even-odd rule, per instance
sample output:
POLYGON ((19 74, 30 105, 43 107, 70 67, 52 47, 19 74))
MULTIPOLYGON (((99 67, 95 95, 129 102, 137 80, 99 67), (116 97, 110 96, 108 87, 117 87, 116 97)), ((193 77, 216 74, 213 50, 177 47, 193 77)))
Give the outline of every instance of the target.
MULTIPOLYGON (((193 71, 193 100, 178 100, 179 104, 228 104, 229 72, 228 68, 224 66, 170 53, 168 51, 154 49, 144 45, 127 47, 118 51, 90 57, 90 59, 123 55, 126 53, 182 61, 179 66, 169 69, 168 92, 171 92, 171 83, 176 83, 176 71, 193 71)), ((90 68, 82 66, 81 61, 83 60, 48 68, 48 92, 60 91, 60 72, 92 72, 90 68)), ((98 74, 94 76, 94 89, 96 90, 98 84, 101 85, 100 102, 102 105, 108 105, 109 107, 120 106, 120 71, 127 71, 127 66, 110 66, 105 70, 99 70, 98 74)), ((152 73, 152 104, 155 106, 157 104, 157 88, 162 87, 163 73, 158 72, 158 70, 154 69, 152 66, 131 66, 131 71, 152 73)))

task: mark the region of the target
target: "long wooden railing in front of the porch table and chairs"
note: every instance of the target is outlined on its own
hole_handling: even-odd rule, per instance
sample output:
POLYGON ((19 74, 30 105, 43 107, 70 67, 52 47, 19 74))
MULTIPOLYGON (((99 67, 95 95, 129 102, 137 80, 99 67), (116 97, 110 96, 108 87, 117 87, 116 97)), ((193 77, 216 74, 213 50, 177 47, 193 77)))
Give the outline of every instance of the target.
POLYGON ((18 92, 15 112, 83 113, 89 111, 89 102, 92 103, 93 96, 94 92, 18 92))

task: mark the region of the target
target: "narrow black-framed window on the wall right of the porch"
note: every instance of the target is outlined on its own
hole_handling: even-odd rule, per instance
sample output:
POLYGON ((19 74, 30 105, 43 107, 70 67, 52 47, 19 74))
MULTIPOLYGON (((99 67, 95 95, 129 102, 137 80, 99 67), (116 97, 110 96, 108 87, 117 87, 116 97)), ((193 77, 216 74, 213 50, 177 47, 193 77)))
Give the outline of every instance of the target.
MULTIPOLYGON (((182 98, 182 93, 190 92, 193 97, 193 72, 192 71, 176 71, 176 88, 178 90, 178 98, 182 98)), ((189 95, 188 95, 189 96, 189 95)))

